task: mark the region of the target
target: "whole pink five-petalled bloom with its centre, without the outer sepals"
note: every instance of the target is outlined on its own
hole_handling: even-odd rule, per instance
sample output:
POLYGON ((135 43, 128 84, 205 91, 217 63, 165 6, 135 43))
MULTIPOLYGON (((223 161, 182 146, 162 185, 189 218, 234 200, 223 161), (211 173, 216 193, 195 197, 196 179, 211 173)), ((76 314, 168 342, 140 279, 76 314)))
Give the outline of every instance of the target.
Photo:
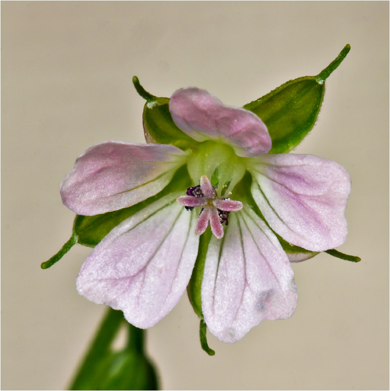
POLYGON ((184 293, 210 225, 202 314, 211 333, 233 343, 262 320, 295 310, 293 271, 275 233, 315 252, 344 243, 349 174, 312 155, 267 154, 262 120, 205 90, 177 90, 169 110, 194 140, 191 148, 107 141, 84 152, 63 179, 63 203, 86 216, 174 188, 103 238, 82 265, 77 289, 123 310, 134 326, 153 326, 184 293), (183 166, 191 184, 175 188, 183 166))

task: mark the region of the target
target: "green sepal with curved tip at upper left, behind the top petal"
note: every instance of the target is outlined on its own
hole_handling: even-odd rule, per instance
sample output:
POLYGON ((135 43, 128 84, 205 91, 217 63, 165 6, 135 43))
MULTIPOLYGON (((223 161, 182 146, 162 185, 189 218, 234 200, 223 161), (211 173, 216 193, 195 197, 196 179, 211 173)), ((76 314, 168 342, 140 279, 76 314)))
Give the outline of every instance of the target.
POLYGON ((157 97, 145 91, 137 76, 133 77, 133 84, 137 92, 146 100, 143 124, 147 143, 171 144, 182 150, 197 144, 173 122, 169 111, 169 98, 157 97))

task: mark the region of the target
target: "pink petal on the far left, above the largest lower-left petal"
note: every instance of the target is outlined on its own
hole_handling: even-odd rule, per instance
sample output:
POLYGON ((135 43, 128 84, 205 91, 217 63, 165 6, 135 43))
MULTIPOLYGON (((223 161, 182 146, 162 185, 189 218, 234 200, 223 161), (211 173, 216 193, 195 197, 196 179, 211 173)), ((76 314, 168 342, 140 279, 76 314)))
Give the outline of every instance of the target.
POLYGON ((164 189, 185 159, 185 152, 172 145, 96 144, 62 180, 62 202, 84 216, 134 205, 164 189))

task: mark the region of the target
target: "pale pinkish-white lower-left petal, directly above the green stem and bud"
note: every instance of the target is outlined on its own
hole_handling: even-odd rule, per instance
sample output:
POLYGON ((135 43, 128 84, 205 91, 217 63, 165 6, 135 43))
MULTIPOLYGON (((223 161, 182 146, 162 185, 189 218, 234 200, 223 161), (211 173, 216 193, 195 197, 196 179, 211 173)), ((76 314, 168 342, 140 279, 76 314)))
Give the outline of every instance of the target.
POLYGON ((196 215, 176 202, 178 194, 150 204, 115 227, 86 259, 77 290, 87 299, 121 309, 146 328, 177 304, 195 264, 196 215))

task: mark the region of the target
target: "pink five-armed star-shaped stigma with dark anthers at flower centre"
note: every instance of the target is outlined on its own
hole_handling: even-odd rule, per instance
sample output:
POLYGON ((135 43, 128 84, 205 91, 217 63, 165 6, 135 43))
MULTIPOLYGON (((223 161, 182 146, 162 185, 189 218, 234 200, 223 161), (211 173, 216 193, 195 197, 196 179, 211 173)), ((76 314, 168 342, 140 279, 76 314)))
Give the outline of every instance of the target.
POLYGON ((197 235, 202 235, 210 222, 212 233, 216 238, 221 239, 224 236, 222 224, 228 224, 229 213, 243 208, 240 201, 217 197, 215 187, 211 185, 207 175, 202 175, 200 185, 189 187, 186 193, 187 195, 177 198, 179 204, 189 211, 202 207, 195 228, 197 235))

